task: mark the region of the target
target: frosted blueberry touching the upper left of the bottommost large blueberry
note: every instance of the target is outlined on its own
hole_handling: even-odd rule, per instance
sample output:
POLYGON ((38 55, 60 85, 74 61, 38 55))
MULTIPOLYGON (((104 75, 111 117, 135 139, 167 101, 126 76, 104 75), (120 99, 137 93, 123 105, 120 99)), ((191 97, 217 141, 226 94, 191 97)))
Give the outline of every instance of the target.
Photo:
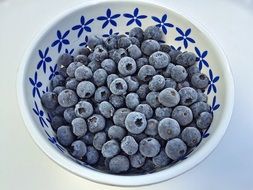
POLYGON ((109 140, 105 144, 103 144, 101 150, 101 153, 105 158, 112 158, 116 156, 119 152, 120 152, 119 143, 114 139, 109 140))

